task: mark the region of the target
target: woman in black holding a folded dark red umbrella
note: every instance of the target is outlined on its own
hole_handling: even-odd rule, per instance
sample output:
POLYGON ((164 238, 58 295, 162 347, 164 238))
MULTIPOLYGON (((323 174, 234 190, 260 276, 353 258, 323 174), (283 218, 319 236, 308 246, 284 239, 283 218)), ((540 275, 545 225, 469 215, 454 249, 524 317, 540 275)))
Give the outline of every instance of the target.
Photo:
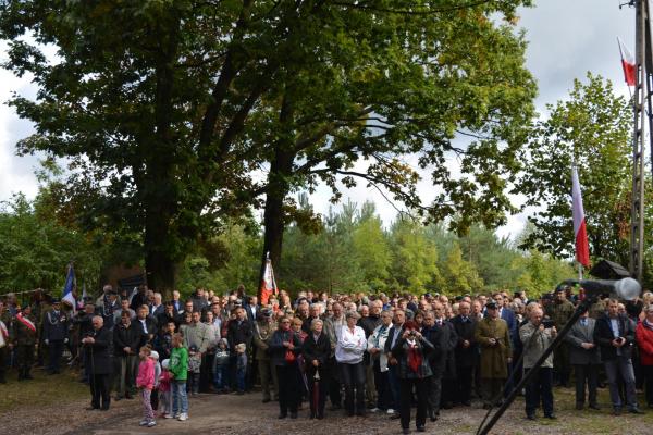
POLYGON ((270 338, 270 359, 279 380, 279 418, 285 419, 291 411, 291 419, 297 418, 299 368, 297 356, 301 352, 301 343, 291 330, 291 320, 282 316, 279 328, 270 338))

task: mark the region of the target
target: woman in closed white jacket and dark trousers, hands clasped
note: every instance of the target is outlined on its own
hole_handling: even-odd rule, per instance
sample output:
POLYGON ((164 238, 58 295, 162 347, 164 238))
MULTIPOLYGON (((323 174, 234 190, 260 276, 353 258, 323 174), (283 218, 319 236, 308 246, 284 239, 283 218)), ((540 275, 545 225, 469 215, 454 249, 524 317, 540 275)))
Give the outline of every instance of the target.
POLYGON ((358 313, 349 311, 345 314, 346 325, 342 326, 337 344, 335 345, 335 360, 337 361, 341 382, 345 386, 345 410, 347 415, 365 415, 365 368, 362 353, 367 349, 365 331, 356 326, 358 313), (354 395, 356 391, 356 406, 354 395))

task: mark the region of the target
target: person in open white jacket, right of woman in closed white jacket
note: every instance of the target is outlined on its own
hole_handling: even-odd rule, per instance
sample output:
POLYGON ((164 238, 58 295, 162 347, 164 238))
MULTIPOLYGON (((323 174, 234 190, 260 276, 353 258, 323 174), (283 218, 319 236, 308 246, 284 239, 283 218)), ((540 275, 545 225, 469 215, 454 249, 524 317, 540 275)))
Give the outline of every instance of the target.
POLYGON ((377 408, 372 412, 386 411, 394 413, 392 407, 392 395, 387 381, 387 355, 383 351, 387 340, 387 332, 392 326, 392 311, 381 313, 381 324, 368 337, 368 352, 374 369, 374 386, 377 387, 377 408))

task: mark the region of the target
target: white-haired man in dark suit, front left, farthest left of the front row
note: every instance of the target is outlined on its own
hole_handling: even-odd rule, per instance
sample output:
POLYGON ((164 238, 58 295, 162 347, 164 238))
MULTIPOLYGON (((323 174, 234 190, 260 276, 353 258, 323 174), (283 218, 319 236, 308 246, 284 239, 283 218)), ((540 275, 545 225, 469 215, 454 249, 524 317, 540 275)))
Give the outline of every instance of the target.
POLYGON ((113 366, 111 355, 111 332, 104 327, 101 315, 93 318, 93 333, 82 338, 82 344, 90 361, 90 408, 87 410, 109 410, 111 398, 109 397, 109 377, 113 366), (101 402, 100 402, 101 398, 101 402))

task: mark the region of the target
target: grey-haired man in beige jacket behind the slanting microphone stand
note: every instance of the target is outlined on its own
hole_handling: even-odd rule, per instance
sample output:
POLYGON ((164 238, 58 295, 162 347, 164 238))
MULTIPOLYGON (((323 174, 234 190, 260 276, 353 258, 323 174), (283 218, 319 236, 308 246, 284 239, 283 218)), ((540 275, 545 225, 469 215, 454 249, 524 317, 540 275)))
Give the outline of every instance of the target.
POLYGON ((523 371, 531 370, 535 374, 526 386, 526 418, 535 420, 535 410, 540 407, 544 417, 555 419, 553 413, 553 355, 550 355, 540 368, 534 366, 538 359, 549 348, 557 331, 555 326, 545 327, 542 324, 542 309, 533 308, 529 313, 529 321, 519 328, 519 338, 523 345, 523 371))

